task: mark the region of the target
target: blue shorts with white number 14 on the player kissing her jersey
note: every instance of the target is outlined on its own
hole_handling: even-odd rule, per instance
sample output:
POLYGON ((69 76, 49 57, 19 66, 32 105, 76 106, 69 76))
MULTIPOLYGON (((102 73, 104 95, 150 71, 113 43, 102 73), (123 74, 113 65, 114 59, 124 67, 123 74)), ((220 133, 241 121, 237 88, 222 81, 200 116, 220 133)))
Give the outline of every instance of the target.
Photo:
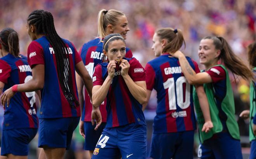
POLYGON ((134 123, 105 128, 93 152, 92 159, 145 159, 146 125, 134 123))

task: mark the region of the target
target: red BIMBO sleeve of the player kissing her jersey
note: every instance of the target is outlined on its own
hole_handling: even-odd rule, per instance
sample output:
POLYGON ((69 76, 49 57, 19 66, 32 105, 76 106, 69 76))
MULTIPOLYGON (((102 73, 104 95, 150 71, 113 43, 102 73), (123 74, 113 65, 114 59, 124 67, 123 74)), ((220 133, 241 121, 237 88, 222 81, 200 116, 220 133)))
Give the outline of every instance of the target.
POLYGON ((129 75, 133 81, 145 81, 146 78, 146 71, 138 62, 137 59, 133 58, 129 61, 130 68, 129 68, 129 75))

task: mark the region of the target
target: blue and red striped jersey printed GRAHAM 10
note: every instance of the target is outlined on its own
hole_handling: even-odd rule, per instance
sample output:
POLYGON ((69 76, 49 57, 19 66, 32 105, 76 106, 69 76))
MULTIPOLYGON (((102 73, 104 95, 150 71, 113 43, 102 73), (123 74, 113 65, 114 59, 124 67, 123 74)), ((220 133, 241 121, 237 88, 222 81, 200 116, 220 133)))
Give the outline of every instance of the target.
MULTIPOLYGON (((190 57, 187 60, 199 73, 197 63, 190 57)), ((154 133, 195 130, 193 87, 183 75, 178 59, 163 54, 149 61, 145 70, 147 90, 157 91, 154 133)))

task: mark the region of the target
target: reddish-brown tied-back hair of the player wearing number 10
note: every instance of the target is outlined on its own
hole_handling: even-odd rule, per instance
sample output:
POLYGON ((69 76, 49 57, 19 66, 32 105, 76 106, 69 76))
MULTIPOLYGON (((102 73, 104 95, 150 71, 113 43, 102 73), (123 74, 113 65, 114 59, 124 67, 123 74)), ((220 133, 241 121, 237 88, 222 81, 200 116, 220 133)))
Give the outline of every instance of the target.
POLYGON ((183 43, 186 47, 186 43, 180 29, 160 28, 156 31, 156 34, 159 36, 160 40, 166 39, 168 41, 167 45, 163 48, 162 53, 174 53, 180 50, 183 43))

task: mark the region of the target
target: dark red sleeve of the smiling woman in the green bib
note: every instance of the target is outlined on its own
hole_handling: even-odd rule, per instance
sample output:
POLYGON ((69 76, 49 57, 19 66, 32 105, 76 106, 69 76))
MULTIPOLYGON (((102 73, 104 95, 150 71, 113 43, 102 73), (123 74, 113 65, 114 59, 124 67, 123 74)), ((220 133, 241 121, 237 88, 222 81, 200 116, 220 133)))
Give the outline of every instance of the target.
POLYGON ((211 76, 213 83, 226 79, 226 72, 221 66, 215 66, 206 71, 211 76))

